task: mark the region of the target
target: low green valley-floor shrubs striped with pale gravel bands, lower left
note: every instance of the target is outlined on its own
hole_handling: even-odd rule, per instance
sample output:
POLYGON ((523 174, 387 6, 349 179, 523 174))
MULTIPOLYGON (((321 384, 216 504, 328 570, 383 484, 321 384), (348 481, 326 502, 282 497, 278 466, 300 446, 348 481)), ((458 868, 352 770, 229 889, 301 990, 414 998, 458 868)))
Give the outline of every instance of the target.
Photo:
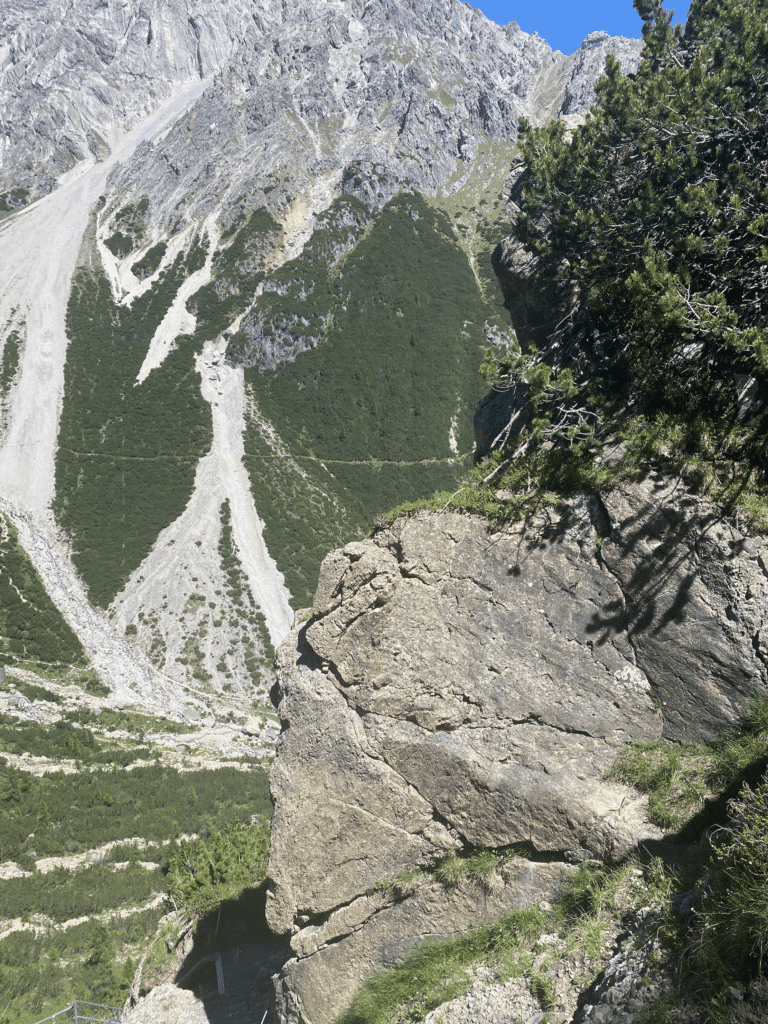
MULTIPOLYGON (((52 695, 44 687, 36 689, 52 695)), ((68 713, 68 719, 73 717, 84 720, 87 713, 82 709, 68 713)), ((89 721, 100 728, 160 724, 110 711, 91 714, 89 721)), ((109 737, 74 728, 68 720, 45 727, 3 718, 0 748, 9 753, 78 756, 91 768, 104 761, 112 765, 110 770, 38 777, 0 758, 0 860, 13 860, 32 871, 3 882, 0 920, 20 918, 29 923, 32 914, 53 923, 90 919, 63 931, 28 924, 24 931, 0 940, 1 1021, 32 1024, 72 998, 121 1006, 138 961, 153 943, 160 916, 171 906, 163 898, 169 882, 176 885, 177 903, 180 886, 189 897, 190 912, 197 907, 196 897, 191 890, 186 892, 175 868, 168 873, 169 864, 183 871, 183 865, 197 864, 204 852, 210 854, 216 871, 205 884, 197 874, 193 886, 198 901, 206 906, 240 891, 244 880, 254 884, 263 874, 268 826, 254 826, 252 820, 258 814, 267 821, 271 806, 266 772, 259 765, 246 771, 181 773, 163 767, 158 759, 151 767, 125 770, 118 767, 125 763, 121 755, 130 760, 135 754, 153 754, 135 743, 129 750, 115 748, 109 737), (179 845, 184 834, 201 839, 179 845), (151 845, 140 848, 129 842, 135 837, 151 845), (106 843, 116 846, 100 852, 97 863, 46 873, 35 869, 40 857, 85 852, 106 843), (153 902, 157 905, 151 906, 153 902)))

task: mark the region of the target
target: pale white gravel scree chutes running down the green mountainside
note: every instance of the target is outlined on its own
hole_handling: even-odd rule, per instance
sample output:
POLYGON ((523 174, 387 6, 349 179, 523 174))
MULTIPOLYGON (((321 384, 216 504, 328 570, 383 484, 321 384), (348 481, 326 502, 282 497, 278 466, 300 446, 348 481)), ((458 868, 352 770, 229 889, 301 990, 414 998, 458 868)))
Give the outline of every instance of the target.
MULTIPOLYGON (((0 510, 12 518, 22 545, 46 590, 79 636, 101 678, 114 690, 115 699, 124 702, 140 699, 161 714, 172 703, 185 701, 185 695, 179 681, 159 673, 123 638, 126 615, 135 614, 139 607, 157 607, 169 586, 179 583, 182 561, 193 583, 205 585, 205 579, 195 569, 195 556, 199 557, 203 545, 215 556, 220 532, 218 510, 224 499, 228 498, 231 505, 232 529, 243 567, 275 644, 288 633, 293 621, 283 577, 263 544, 263 523, 254 507, 242 463, 245 425, 242 371, 225 367, 222 352, 210 346, 198 359, 203 395, 213 413, 213 445, 198 466, 195 492, 187 508, 161 534, 144 564, 134 572, 121 595, 123 614, 118 621, 111 622, 89 606, 49 506, 54 494, 54 460, 63 396, 67 303, 88 218, 115 165, 130 158, 141 141, 166 130, 207 85, 208 81, 203 81, 182 88, 135 129, 115 139, 113 154, 103 163, 83 162, 62 177, 55 193, 0 224, 0 330, 7 331, 11 319, 15 323, 26 319, 27 325, 20 376, 10 393, 7 430, 0 437, 0 510), (184 559, 182 549, 193 544, 191 538, 200 544, 186 552, 189 557, 184 559)), ((204 229, 215 242, 212 217, 204 229)), ((102 245, 100 249, 103 250, 102 245)), ((126 285, 135 279, 110 258, 105 258, 105 265, 120 301, 130 302, 150 287, 147 282, 136 283, 125 294, 126 285)), ((153 339, 138 382, 162 364, 178 334, 194 330, 194 317, 184 303, 209 280, 210 256, 206 266, 179 290, 153 339)))

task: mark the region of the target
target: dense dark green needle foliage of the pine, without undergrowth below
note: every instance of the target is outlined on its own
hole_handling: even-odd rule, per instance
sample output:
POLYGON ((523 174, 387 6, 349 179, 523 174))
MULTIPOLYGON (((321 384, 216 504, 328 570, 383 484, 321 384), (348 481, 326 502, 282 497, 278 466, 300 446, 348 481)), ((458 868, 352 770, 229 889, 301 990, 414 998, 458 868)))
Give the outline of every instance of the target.
MULTIPOLYGON (((550 422, 570 425, 571 437, 572 410, 600 404, 596 378, 603 397, 632 381, 646 416, 728 428, 738 375, 753 379, 753 411, 768 398, 766 4, 693 0, 684 31, 672 30, 662 0, 635 8, 645 39, 637 75, 608 57, 572 138, 561 121, 523 123, 518 231, 545 276, 575 285, 578 300, 549 354, 518 372, 546 362, 554 383, 568 332, 590 339, 586 365, 570 364, 579 387, 569 376, 565 388, 549 385, 550 422)), ((764 454, 754 428, 753 460, 764 454)))

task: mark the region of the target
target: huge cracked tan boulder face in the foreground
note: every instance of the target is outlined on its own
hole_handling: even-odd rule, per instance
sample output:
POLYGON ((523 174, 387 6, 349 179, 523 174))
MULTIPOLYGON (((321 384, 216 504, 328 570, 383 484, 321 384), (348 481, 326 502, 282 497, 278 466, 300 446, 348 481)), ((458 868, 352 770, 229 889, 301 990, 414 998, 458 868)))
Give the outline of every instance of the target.
POLYGON ((560 864, 509 880, 493 916, 657 836, 605 772, 632 740, 722 733, 766 692, 765 551, 649 476, 499 534, 422 513, 329 555, 278 659, 267 915, 296 952, 280 1019, 325 1024, 476 910, 435 886, 391 905, 377 882, 516 843, 560 864))

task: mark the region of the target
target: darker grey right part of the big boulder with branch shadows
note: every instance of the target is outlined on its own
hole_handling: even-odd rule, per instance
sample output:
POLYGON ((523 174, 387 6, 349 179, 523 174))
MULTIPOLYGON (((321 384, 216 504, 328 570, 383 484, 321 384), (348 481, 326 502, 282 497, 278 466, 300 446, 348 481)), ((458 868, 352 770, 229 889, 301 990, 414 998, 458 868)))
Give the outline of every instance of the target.
POLYGON ((768 548, 679 480, 650 476, 605 507, 600 554, 624 606, 596 635, 627 630, 665 736, 713 740, 768 686, 768 548))

